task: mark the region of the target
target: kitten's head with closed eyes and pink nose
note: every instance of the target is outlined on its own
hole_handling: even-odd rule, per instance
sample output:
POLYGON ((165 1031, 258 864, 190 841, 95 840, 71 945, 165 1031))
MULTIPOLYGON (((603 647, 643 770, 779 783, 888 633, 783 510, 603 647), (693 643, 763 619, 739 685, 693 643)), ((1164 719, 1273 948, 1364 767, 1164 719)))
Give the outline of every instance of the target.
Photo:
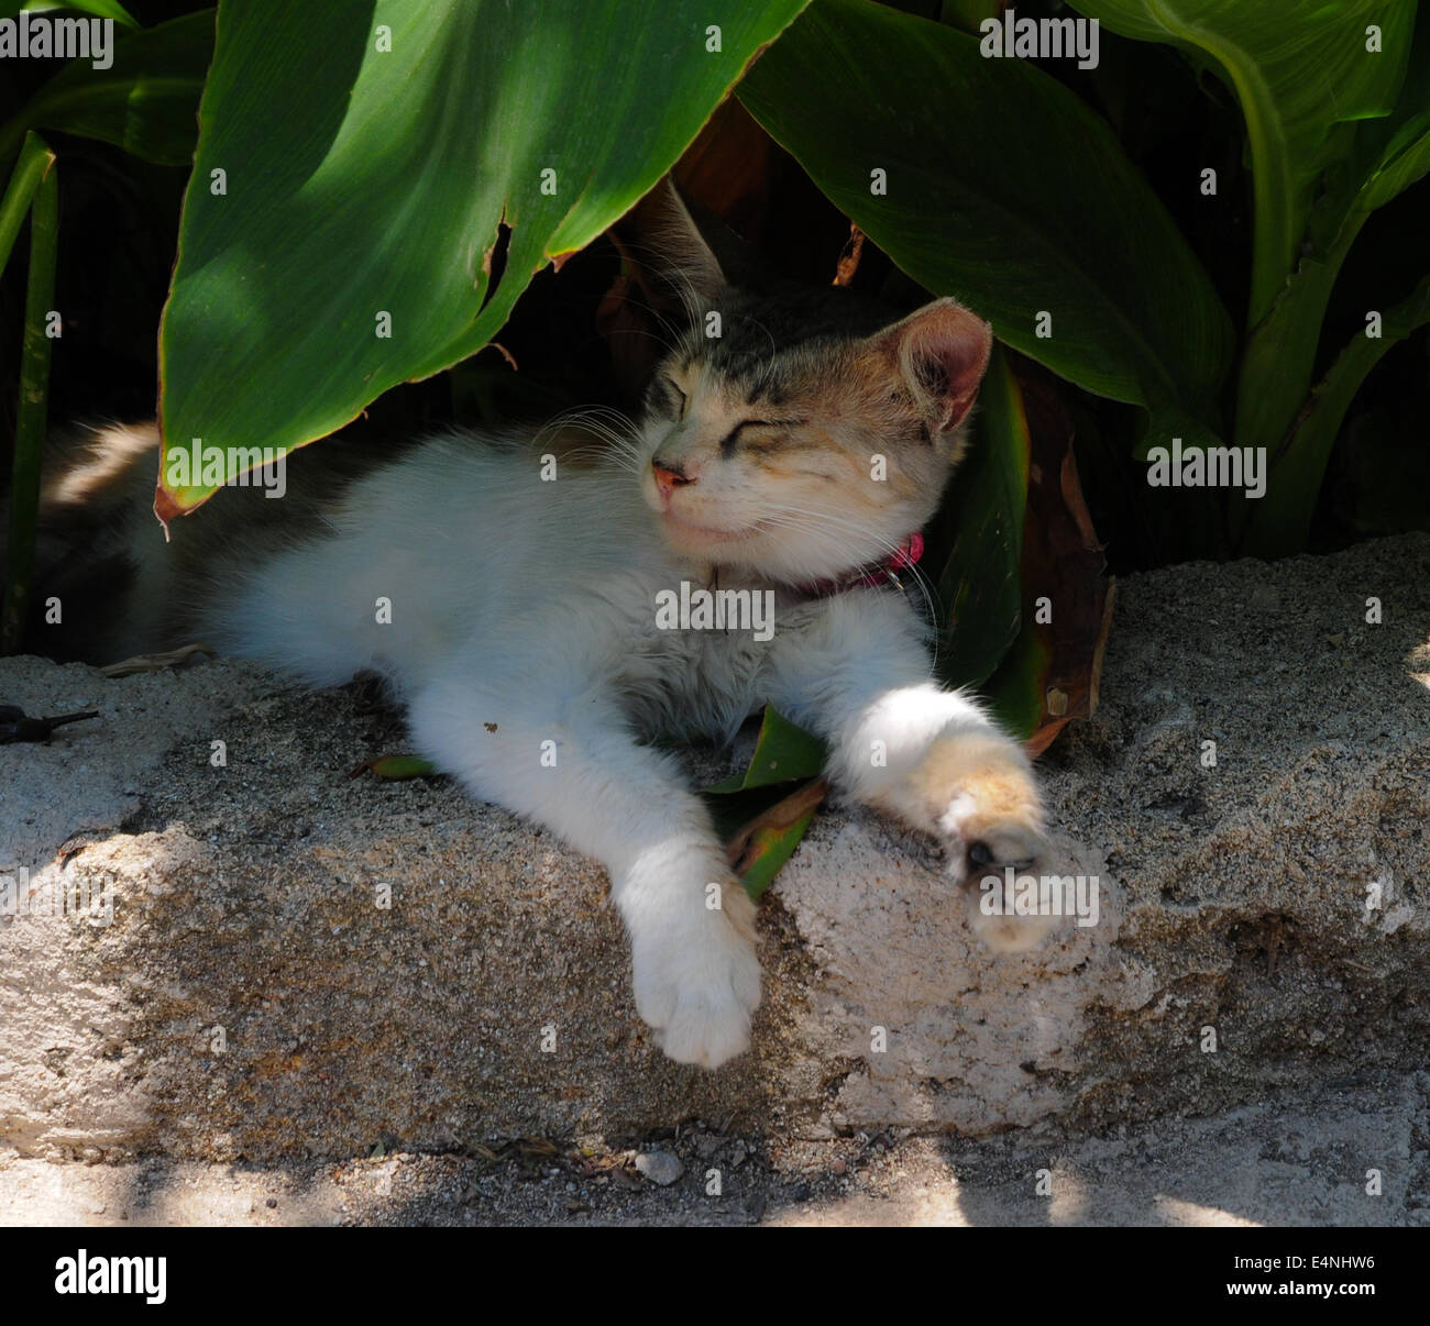
POLYGON ((904 319, 835 287, 725 279, 665 190, 665 320, 642 493, 679 553, 807 584, 885 562, 934 514, 992 334, 952 299, 904 319))

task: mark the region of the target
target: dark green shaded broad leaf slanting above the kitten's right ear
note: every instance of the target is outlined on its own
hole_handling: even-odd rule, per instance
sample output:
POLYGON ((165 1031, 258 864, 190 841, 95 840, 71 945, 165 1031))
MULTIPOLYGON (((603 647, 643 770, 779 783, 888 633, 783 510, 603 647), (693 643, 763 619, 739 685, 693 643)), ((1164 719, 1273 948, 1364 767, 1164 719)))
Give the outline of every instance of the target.
POLYGON ((739 96, 921 284, 1145 406, 1155 437, 1217 432, 1230 319, 1107 124, 1054 79, 869 0, 815 0, 739 96))

